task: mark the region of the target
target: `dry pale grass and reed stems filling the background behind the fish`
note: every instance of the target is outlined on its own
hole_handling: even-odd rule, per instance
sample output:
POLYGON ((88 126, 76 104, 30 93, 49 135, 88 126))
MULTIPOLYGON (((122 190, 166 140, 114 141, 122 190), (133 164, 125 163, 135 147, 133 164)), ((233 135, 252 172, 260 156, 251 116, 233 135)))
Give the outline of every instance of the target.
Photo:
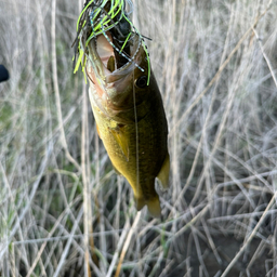
POLYGON ((72 74, 81 1, 0 0, 0 276, 276 276, 276 1, 134 3, 170 129, 162 220, 72 74))

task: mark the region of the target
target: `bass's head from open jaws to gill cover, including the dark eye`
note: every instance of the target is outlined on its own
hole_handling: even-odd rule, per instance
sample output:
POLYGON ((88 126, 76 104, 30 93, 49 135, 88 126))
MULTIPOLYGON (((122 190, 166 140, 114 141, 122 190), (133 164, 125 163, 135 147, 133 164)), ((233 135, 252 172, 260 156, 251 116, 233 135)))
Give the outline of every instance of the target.
MULTIPOLYGON (((128 41, 131 58, 117 68, 119 52, 113 44, 109 31, 101 34, 88 44, 87 76, 93 102, 109 117, 140 105, 149 93, 149 74, 142 38, 133 34, 128 41)), ((122 64, 122 63, 121 63, 122 64)))

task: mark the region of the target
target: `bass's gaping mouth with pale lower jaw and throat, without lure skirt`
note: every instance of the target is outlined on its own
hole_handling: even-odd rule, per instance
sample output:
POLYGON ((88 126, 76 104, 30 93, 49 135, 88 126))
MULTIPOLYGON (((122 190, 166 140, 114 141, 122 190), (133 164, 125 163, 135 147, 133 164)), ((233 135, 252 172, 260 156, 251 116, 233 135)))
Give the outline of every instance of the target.
MULTIPOLYGON (((145 58, 142 39, 132 34, 128 40, 130 56, 119 53, 115 48, 110 31, 93 38, 88 44, 87 76, 90 81, 92 101, 105 111, 128 109, 133 107, 130 92, 133 91, 133 80, 145 58)), ((110 111, 111 113, 111 111, 110 111)))

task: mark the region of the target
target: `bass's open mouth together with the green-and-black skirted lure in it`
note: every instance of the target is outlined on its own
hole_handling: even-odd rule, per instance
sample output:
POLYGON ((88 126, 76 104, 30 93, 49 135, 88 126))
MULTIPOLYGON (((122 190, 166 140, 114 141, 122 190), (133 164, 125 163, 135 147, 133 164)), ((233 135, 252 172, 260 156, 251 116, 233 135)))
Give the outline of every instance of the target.
POLYGON ((79 58, 75 72, 80 64, 82 69, 88 65, 89 78, 90 71, 94 71, 97 80, 110 83, 134 67, 144 71, 138 52, 143 49, 147 58, 148 53, 142 36, 129 19, 132 9, 131 0, 90 0, 84 3, 77 23, 75 51, 79 58))

